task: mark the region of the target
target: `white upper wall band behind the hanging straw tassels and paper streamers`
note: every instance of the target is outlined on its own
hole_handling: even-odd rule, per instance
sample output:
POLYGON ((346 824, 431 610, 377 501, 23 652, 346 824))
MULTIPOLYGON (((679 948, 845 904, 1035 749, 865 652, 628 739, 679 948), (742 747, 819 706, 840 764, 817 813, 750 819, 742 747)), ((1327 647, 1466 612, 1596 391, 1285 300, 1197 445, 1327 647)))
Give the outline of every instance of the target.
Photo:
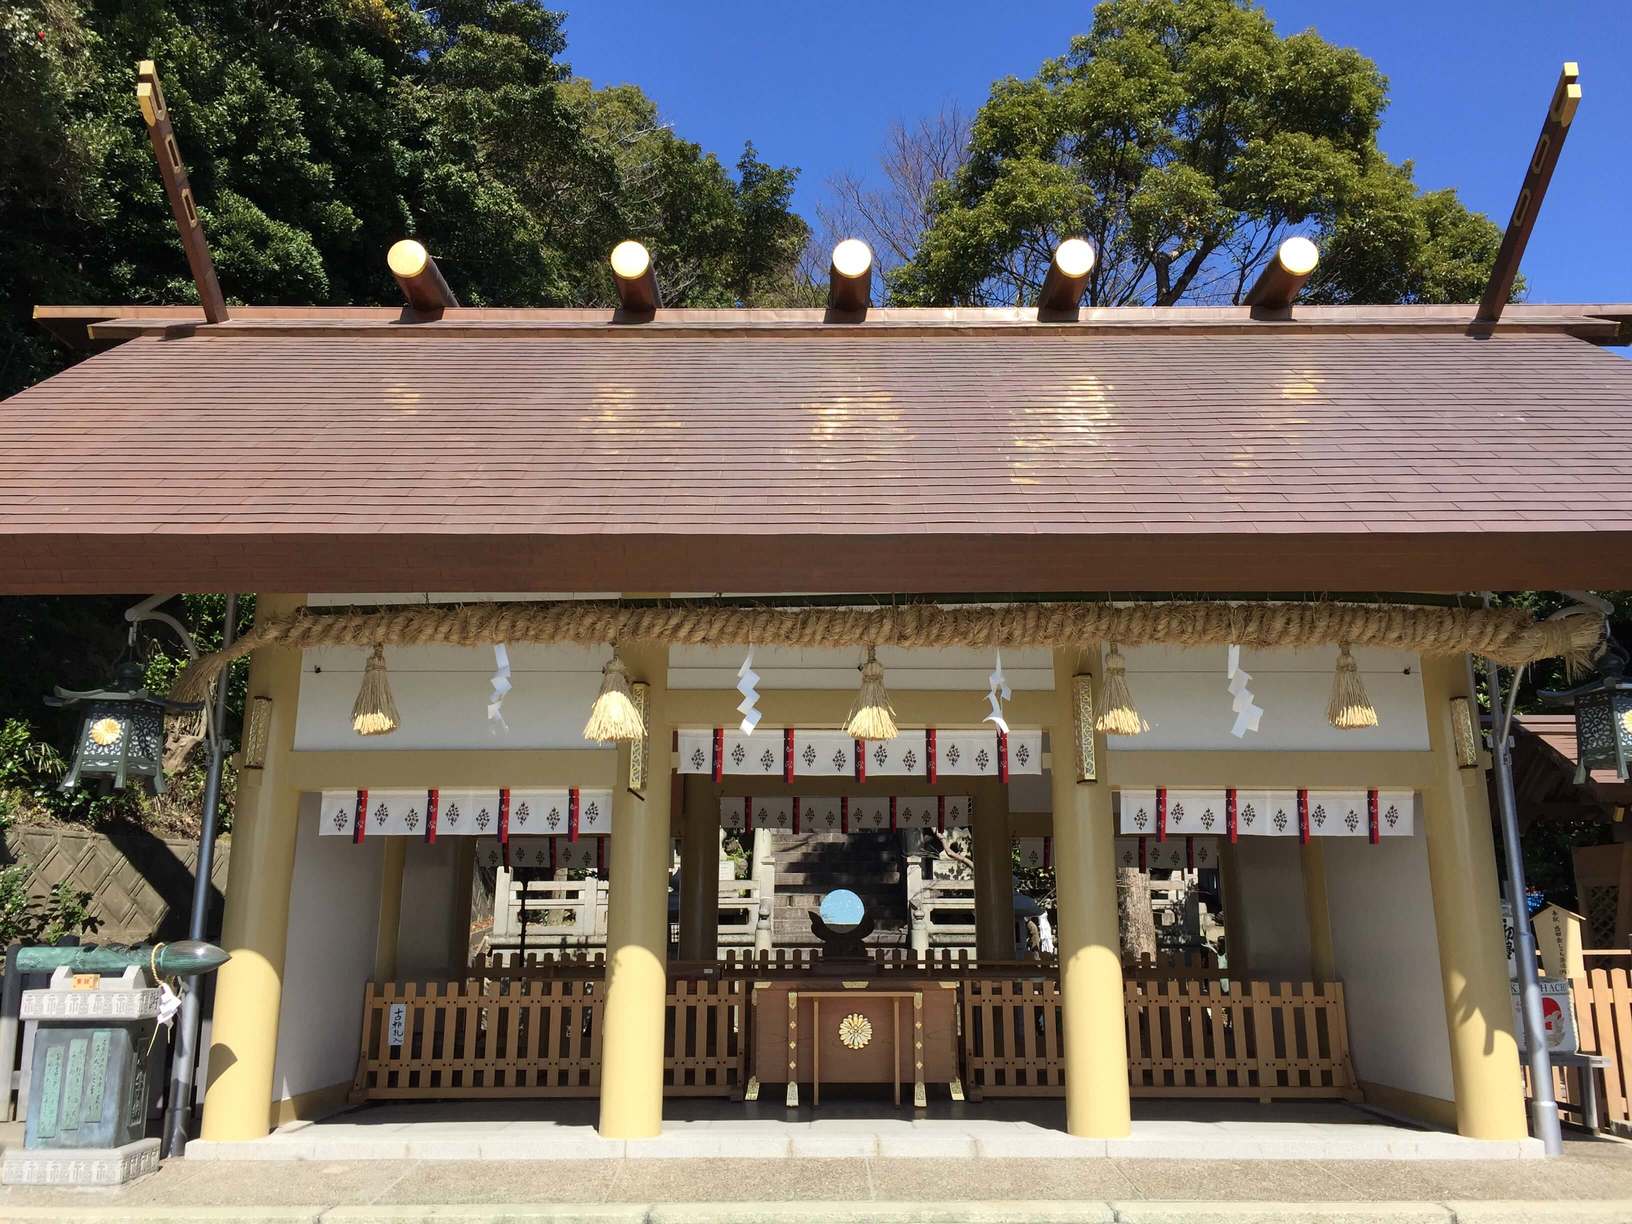
MULTIPOLYGON (((478 602, 524 596, 457 596, 432 592, 432 602, 478 602)), ((421 602, 423 596, 313 596, 325 604, 421 602)), ((1224 646, 1126 648, 1128 681, 1139 713, 1151 723, 1142 736, 1113 736, 1113 752, 1162 749, 1222 751, 1359 751, 1428 747, 1421 674, 1417 656, 1400 651, 1355 650, 1366 690, 1377 707, 1379 726, 1338 731, 1327 725, 1335 648, 1245 650, 1242 666, 1263 707, 1257 734, 1235 739, 1231 694, 1224 677, 1224 646)), ((508 730, 486 718, 491 648, 388 646, 392 690, 403 725, 390 736, 362 738, 351 731, 351 705, 362 681, 366 650, 317 648, 304 659, 295 747, 302 751, 416 747, 597 747, 581 738, 584 718, 601 685, 604 646, 511 646, 511 681, 504 700, 508 730)), ((947 721, 979 723, 986 713, 992 653, 986 650, 881 648, 886 682, 893 689, 943 690, 947 721)), ((674 689, 731 689, 743 650, 679 646, 669 658, 674 689)), ((839 690, 857 684, 858 650, 795 650, 761 646, 754 669, 761 690, 839 690)), ((1048 690, 1053 663, 1046 650, 1004 651, 1004 672, 1017 692, 1048 690)))

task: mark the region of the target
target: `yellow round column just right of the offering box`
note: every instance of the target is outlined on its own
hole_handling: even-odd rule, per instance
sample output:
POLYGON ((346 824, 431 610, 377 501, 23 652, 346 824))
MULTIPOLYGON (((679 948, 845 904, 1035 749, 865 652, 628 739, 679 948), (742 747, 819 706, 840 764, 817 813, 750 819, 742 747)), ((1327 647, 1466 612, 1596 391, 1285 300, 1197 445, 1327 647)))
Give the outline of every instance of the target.
POLYGON ((1110 759, 1093 736, 1097 782, 1077 782, 1077 733, 1071 677, 1093 671, 1100 707, 1098 648, 1054 651, 1054 716, 1049 725, 1054 792, 1054 888, 1059 898, 1059 992, 1066 1030, 1066 1131, 1090 1139, 1129 1133, 1128 1030, 1121 940, 1116 930, 1116 829, 1110 759))

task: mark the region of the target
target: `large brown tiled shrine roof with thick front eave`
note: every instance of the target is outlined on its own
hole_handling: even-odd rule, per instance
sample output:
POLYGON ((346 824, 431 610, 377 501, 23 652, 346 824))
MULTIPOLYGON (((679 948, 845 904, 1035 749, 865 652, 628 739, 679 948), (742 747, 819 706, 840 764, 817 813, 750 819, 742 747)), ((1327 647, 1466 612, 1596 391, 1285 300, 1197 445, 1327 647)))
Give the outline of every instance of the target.
POLYGON ((1632 581, 1565 335, 199 335, 0 405, 0 589, 1632 581))

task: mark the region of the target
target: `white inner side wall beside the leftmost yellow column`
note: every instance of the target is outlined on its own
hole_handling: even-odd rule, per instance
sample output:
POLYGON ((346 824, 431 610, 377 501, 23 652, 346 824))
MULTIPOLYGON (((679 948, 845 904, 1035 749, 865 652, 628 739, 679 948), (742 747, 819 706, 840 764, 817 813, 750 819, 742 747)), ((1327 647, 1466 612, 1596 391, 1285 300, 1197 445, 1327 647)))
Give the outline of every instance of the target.
POLYGON ((273 1069, 279 1100, 356 1072, 380 916, 380 842, 320 837, 315 795, 302 798, 299 821, 273 1069))

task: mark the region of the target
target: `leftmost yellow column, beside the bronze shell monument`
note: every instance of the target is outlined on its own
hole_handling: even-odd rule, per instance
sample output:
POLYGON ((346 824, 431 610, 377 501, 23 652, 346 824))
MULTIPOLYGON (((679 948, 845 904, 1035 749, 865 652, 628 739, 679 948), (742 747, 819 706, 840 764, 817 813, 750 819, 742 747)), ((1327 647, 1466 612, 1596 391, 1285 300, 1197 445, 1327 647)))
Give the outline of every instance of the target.
MULTIPOLYGON (((300 607, 304 596, 256 596, 256 620, 300 607)), ((289 940, 300 793, 289 752, 300 700, 300 651, 263 646, 250 656, 248 697, 273 702, 266 764, 238 774, 232 863, 220 942, 232 953, 215 978, 215 1018, 204 1093, 206 1139, 259 1139, 271 1129, 277 1009, 289 940)))

